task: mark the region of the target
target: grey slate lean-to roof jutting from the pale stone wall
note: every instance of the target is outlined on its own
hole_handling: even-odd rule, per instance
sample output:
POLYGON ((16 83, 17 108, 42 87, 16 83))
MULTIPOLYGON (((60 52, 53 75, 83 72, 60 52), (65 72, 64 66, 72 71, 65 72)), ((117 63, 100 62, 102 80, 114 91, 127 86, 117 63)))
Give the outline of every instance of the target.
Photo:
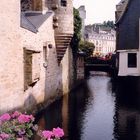
POLYGON ((45 14, 42 12, 22 12, 21 13, 21 27, 31 32, 37 33, 39 27, 52 15, 52 11, 45 14))

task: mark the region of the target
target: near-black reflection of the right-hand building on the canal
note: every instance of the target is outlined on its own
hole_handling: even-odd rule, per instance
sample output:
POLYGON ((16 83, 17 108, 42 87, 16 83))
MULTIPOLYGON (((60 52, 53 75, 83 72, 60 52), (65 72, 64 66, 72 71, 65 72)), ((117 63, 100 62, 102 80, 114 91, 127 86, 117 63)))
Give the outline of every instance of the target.
POLYGON ((140 140, 139 79, 121 79, 116 89, 115 140, 140 140))

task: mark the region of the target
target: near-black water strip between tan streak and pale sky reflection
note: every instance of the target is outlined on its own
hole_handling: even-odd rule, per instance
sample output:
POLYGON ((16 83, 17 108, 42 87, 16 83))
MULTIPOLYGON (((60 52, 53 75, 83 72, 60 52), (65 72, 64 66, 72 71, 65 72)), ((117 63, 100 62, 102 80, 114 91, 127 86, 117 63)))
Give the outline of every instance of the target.
POLYGON ((84 83, 69 95, 69 140, 81 140, 86 109, 92 98, 84 83))

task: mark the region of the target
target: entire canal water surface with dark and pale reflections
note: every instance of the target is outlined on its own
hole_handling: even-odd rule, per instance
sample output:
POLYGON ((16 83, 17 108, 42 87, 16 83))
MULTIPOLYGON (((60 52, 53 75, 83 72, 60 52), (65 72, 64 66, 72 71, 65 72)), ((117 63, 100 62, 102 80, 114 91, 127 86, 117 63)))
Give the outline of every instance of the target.
POLYGON ((140 140, 140 80, 91 72, 37 116, 42 130, 63 128, 64 140, 140 140))

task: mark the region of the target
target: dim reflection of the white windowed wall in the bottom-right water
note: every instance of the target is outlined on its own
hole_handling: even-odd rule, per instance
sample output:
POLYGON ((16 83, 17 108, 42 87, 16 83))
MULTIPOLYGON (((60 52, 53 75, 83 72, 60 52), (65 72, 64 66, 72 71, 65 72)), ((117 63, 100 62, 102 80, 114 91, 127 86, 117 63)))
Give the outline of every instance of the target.
POLYGON ((140 140, 140 114, 137 110, 118 110, 118 139, 140 140))

